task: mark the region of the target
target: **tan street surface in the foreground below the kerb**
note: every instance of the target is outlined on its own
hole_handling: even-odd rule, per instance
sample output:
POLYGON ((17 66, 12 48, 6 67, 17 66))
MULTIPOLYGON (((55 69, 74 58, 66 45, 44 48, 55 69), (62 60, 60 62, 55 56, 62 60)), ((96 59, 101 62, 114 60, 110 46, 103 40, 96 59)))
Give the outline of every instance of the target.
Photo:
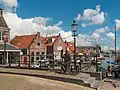
POLYGON ((43 78, 0 74, 1 90, 92 90, 90 88, 43 78))

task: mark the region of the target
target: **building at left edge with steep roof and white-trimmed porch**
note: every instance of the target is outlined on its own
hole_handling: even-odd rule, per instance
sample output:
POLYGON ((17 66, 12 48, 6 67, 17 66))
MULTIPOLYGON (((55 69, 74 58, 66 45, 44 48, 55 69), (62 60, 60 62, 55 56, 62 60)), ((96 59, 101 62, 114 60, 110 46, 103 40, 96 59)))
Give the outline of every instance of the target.
POLYGON ((0 64, 18 62, 20 52, 17 47, 10 44, 10 28, 3 17, 3 10, 0 8, 0 64))

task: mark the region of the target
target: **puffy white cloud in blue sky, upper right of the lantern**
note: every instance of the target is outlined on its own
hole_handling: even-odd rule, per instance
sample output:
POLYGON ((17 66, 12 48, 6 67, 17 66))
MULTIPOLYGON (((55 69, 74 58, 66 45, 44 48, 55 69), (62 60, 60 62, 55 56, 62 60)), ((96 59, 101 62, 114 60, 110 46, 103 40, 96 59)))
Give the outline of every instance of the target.
POLYGON ((102 24, 105 21, 105 13, 100 12, 100 5, 96 5, 96 9, 85 9, 83 14, 78 14, 76 20, 88 21, 86 26, 93 24, 102 24))

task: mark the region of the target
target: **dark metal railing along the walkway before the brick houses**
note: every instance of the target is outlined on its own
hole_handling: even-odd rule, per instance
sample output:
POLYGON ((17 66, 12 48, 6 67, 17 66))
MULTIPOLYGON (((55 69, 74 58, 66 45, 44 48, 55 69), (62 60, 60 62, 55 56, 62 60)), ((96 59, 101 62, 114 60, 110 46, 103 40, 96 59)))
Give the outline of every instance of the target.
MULTIPOLYGON (((55 55, 11 55, 9 57, 8 63, 6 63, 5 66, 61 69, 62 66, 66 65, 64 63, 64 60, 65 58, 58 59, 56 58, 55 55), (34 57, 33 60, 32 60, 32 57, 34 57), (39 57, 39 59, 37 57, 39 57)), ((72 70, 72 67, 74 65, 74 60, 72 55, 70 55, 70 60, 69 62, 67 62, 67 64, 69 64, 69 68, 72 70)), ((81 70, 85 67, 89 67, 91 63, 87 63, 86 58, 76 57, 76 65, 77 67, 79 67, 78 69, 81 70)))

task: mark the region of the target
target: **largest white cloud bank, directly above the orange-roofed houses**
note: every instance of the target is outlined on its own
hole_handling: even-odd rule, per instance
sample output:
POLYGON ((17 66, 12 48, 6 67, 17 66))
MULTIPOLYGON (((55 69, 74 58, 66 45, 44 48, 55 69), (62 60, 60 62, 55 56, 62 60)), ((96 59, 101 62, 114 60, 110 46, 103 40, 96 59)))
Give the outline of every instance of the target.
POLYGON ((40 32, 42 36, 45 36, 46 34, 58 35, 59 33, 61 33, 61 36, 65 38, 65 40, 73 40, 71 31, 65 32, 64 30, 62 30, 61 27, 59 27, 59 25, 63 23, 62 21, 58 22, 58 26, 56 24, 47 25, 47 23, 52 20, 49 17, 34 17, 22 19, 18 17, 17 14, 10 12, 4 12, 4 18, 9 28, 11 28, 11 38, 13 38, 15 35, 27 35, 40 32))

